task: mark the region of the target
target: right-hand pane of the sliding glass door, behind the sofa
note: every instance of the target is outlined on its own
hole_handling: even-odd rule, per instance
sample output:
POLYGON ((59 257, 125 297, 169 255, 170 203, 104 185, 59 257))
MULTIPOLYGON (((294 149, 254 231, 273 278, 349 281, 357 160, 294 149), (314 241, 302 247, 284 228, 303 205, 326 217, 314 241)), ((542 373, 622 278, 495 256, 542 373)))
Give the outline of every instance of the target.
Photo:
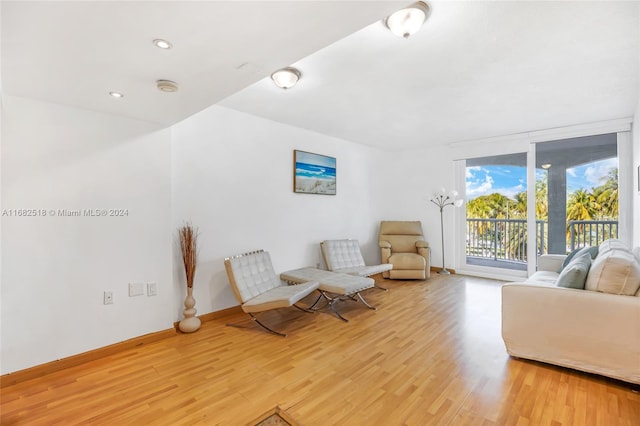
POLYGON ((536 144, 536 169, 547 193, 544 252, 566 254, 618 237, 615 133, 536 144))

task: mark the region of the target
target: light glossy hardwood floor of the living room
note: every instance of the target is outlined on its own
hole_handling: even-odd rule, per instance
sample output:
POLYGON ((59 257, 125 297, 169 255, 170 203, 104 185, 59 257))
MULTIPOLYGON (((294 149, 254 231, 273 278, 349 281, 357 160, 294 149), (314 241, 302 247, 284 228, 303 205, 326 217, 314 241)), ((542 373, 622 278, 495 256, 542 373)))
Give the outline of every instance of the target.
POLYGON ((510 358, 500 285, 435 275, 368 290, 377 311, 244 315, 2 389, 2 425, 638 425, 630 384, 510 358), (226 327, 242 322, 246 329, 226 327))

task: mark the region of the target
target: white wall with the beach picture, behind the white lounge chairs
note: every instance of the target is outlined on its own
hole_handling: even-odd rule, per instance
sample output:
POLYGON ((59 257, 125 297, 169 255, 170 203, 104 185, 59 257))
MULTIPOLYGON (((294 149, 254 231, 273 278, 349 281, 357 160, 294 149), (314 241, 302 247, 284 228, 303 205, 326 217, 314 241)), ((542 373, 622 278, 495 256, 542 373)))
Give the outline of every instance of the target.
MULTIPOLYGON (((324 239, 355 238, 366 261, 379 261, 373 152, 220 106, 175 125, 172 235, 176 240, 185 221, 200 230, 198 313, 237 305, 224 271, 230 255, 264 249, 282 272, 317 265, 324 239), (293 192, 294 149, 336 157, 337 195, 293 192)), ((183 298, 174 248, 174 280, 183 298)))

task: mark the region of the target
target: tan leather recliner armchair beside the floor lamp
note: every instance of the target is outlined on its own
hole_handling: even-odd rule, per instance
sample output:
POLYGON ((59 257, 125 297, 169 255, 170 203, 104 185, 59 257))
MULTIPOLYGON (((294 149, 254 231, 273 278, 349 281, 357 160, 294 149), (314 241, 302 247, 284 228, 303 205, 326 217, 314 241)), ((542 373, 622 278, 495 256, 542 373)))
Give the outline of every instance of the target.
POLYGON ((382 263, 393 265, 392 270, 382 273, 384 278, 426 280, 431 277, 429 243, 424 240, 420 221, 381 221, 378 243, 382 263))

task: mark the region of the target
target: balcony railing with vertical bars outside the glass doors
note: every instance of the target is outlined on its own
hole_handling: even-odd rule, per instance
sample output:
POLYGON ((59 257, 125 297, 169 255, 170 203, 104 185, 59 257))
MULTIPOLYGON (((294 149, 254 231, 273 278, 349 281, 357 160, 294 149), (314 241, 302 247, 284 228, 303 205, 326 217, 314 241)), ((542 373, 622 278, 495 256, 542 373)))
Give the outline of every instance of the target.
MULTIPOLYGON (((467 219, 466 254, 470 258, 504 262, 527 262, 527 221, 525 219, 467 219)), ((618 237, 618 222, 613 220, 570 221, 567 253, 584 246, 598 245, 618 237)), ((560 235, 565 239, 566 236, 560 235)), ((547 252, 547 222, 536 221, 537 254, 547 252)))

